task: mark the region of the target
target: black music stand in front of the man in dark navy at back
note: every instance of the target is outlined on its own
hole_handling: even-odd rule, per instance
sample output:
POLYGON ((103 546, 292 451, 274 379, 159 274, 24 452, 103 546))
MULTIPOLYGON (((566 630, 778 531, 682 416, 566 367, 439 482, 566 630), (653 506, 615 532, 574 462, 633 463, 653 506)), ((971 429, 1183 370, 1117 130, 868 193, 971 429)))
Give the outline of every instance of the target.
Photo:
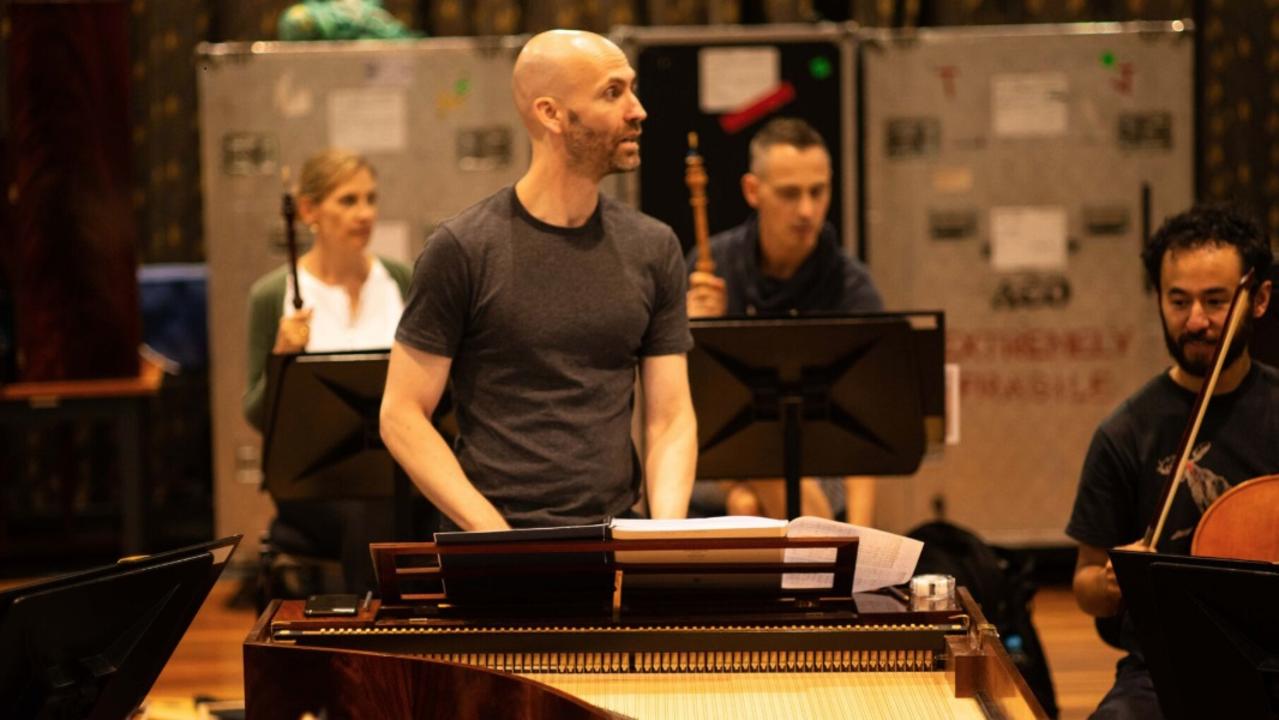
POLYGON ((916 338, 893 313, 696 320, 697 477, 909 474, 923 458, 916 338))

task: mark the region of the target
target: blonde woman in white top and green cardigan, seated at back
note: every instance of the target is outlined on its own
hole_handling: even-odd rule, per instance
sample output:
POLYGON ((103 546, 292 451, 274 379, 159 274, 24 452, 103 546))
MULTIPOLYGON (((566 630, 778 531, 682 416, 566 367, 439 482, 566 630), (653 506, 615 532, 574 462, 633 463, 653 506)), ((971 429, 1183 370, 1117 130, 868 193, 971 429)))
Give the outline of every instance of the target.
MULTIPOLYGON (((313 238, 298 258, 302 309, 293 308, 288 265, 249 290, 244 417, 260 431, 270 356, 390 348, 412 279, 403 262, 368 251, 377 220, 377 176, 367 160, 343 150, 313 155, 302 166, 297 196, 298 216, 313 238)), ((276 509, 272 536, 301 533, 310 552, 341 560, 350 592, 367 587, 372 577, 367 544, 391 538, 388 501, 279 501, 276 509), (280 523, 288 529, 281 531, 280 523)))

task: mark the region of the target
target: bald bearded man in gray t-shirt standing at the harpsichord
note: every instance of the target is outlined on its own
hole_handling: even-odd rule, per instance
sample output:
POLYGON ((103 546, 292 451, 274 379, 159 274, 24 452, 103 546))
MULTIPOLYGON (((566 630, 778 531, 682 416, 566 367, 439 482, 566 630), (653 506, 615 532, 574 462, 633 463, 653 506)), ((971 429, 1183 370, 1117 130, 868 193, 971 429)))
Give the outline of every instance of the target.
POLYGON ((528 171, 444 223, 418 258, 381 434, 462 529, 600 522, 634 503, 641 478, 652 517, 688 512, 697 419, 679 243, 599 189, 640 164, 634 79, 599 35, 530 40, 512 83, 528 171), (457 455, 430 423, 448 382, 457 455))

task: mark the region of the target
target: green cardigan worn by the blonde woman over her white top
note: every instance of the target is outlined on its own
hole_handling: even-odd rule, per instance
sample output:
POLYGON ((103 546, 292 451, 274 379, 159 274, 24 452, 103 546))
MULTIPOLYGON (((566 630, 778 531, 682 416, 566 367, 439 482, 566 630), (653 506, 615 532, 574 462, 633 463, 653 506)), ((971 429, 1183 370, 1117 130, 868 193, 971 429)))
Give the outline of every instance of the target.
MULTIPOLYGON (((386 257, 377 258, 408 295, 413 269, 386 257)), ((244 390, 244 417, 258 431, 266 425, 266 361, 275 347, 275 335, 284 316, 284 293, 289 283, 289 266, 281 265, 257 279, 248 292, 248 387, 244 390)))

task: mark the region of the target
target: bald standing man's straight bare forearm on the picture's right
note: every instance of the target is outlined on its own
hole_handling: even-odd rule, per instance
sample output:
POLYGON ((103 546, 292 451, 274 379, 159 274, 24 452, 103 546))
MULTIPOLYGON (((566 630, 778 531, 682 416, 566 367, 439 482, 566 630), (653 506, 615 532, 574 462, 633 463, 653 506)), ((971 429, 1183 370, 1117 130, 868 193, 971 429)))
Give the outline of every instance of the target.
POLYGON ((645 407, 645 485, 648 514, 683 518, 697 467, 697 417, 688 391, 684 356, 643 358, 640 366, 645 407))

